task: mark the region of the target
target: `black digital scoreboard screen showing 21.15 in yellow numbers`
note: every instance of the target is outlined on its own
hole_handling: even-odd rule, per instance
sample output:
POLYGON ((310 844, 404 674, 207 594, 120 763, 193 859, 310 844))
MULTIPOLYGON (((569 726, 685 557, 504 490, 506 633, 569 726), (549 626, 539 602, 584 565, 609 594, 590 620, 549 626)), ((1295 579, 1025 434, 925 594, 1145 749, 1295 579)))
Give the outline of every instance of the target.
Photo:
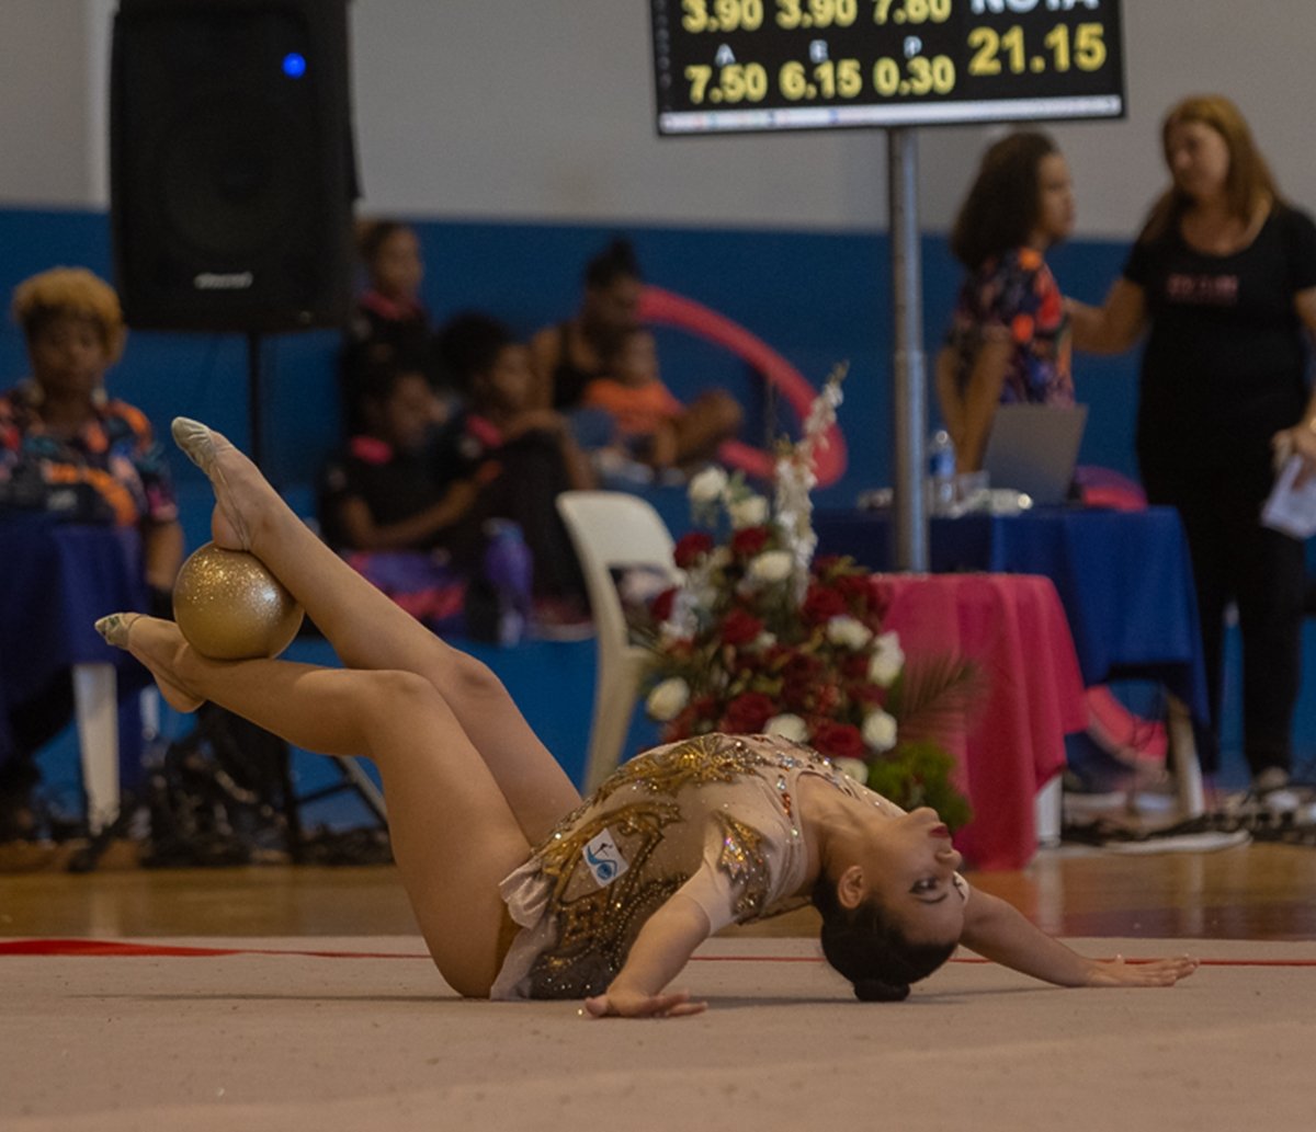
POLYGON ((1125 113, 1119 0, 651 0, 658 133, 1125 113))

